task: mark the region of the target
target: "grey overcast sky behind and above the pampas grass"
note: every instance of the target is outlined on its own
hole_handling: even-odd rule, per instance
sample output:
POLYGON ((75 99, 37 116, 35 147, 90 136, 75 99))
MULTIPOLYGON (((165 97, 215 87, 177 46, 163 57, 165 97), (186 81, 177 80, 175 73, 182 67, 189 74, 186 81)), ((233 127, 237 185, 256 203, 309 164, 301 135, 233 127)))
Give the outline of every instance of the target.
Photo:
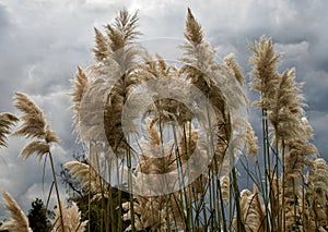
MULTIPOLYGON (((70 80, 77 65, 93 64, 93 27, 102 29, 124 7, 139 10, 140 39, 156 41, 160 52, 167 51, 171 40, 183 39, 190 7, 206 39, 218 49, 218 59, 234 52, 246 76, 247 42, 263 34, 272 37, 277 51, 284 53, 280 71, 295 66, 296 81, 305 82, 314 143, 328 158, 327 0, 0 0, 0 112, 17 113, 12 107, 14 91, 30 95, 62 139, 52 149, 57 163, 70 160, 78 149, 68 109, 70 80)), ((172 49, 172 57, 164 58, 176 59, 176 48, 172 49)), ((256 114, 251 122, 259 129, 256 114)), ((35 197, 46 202, 51 178, 47 167, 43 186, 43 162, 17 158, 25 143, 10 138, 9 148, 0 150, 0 191, 10 192, 26 212, 35 197)))

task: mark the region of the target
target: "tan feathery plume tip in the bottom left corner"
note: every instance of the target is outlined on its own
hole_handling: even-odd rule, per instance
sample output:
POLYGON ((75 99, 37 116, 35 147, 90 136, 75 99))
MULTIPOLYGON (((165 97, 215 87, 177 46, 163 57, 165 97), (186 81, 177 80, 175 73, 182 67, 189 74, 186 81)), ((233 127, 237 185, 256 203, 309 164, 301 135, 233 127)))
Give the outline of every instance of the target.
POLYGON ((10 232, 32 232, 27 218, 14 198, 8 192, 3 193, 3 197, 5 199, 4 206, 8 209, 11 220, 0 225, 0 230, 8 230, 10 232))

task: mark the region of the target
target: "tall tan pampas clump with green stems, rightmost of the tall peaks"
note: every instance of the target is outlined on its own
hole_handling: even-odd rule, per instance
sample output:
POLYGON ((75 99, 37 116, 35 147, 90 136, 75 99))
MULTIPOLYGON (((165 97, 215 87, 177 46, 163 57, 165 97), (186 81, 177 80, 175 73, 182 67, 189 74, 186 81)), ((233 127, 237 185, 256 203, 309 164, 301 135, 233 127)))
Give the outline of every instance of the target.
POLYGON ((305 184, 305 170, 316 162, 317 148, 311 143, 302 84, 295 82, 294 69, 277 71, 281 56, 274 53, 270 38, 262 36, 250 50, 251 87, 260 93, 256 106, 262 109, 267 230, 308 231, 306 193, 311 188, 305 184))

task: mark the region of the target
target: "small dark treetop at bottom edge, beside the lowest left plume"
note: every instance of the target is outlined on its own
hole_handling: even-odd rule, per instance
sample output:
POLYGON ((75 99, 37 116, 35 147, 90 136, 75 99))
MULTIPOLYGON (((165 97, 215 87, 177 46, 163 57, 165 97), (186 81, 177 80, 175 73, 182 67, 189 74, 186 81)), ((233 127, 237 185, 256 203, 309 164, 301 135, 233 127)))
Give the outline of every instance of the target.
POLYGON ((51 223, 49 217, 51 212, 46 209, 42 199, 36 198, 32 202, 32 208, 28 210, 30 227, 34 232, 51 231, 51 223))

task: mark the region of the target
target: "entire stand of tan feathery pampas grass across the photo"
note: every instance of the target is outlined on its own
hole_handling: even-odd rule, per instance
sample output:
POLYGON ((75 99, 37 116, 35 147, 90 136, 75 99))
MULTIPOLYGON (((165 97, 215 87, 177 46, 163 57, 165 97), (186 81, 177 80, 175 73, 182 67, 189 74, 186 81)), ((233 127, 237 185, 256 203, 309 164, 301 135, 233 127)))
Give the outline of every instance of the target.
MULTIPOLYGON (((180 46, 184 51, 179 58, 180 68, 168 64, 160 54, 152 58, 138 47, 136 41, 141 33, 137 13, 121 10, 114 23, 105 26, 104 33, 97 28, 94 32, 92 51, 96 64, 85 70, 78 66, 71 91, 78 141, 84 143, 90 157, 86 163, 69 161, 63 166, 86 190, 86 211, 79 211, 75 203, 67 207, 60 199, 50 150, 51 144, 59 143, 59 138, 43 111, 26 95, 15 94, 14 106, 23 114, 13 134, 32 139, 21 156, 27 159, 35 154, 38 159, 50 159, 58 202, 54 231, 85 231, 86 225, 91 231, 91 206, 96 203, 101 217, 97 227, 106 232, 307 232, 327 229, 328 166, 317 158, 317 148, 312 144, 313 129, 306 119, 301 93, 303 84, 296 83, 295 69, 278 71, 282 57, 276 53, 271 38, 262 36, 249 45, 253 52, 250 87, 259 93, 254 106, 262 112, 260 148, 244 111, 239 113, 241 109, 246 113, 248 105, 243 70, 234 54, 226 56, 223 63, 216 61, 216 51, 206 41, 203 28, 190 9, 184 32, 186 41, 180 46), (207 109, 208 114, 202 118, 209 131, 201 132, 195 123, 197 117, 184 103, 154 98, 141 120, 145 122, 142 130, 148 136, 134 139, 136 125, 128 127, 125 134, 122 120, 133 121, 140 117, 138 107, 127 106, 136 89, 140 86, 154 93, 161 90, 153 89, 149 81, 160 83, 161 87, 173 83, 171 88, 185 94, 186 100, 195 96, 189 94, 187 85, 177 84, 183 81, 196 86, 214 111, 214 115, 209 115, 207 109), (131 108, 127 119, 122 119, 125 107, 131 108), (203 137, 209 144, 201 141, 203 137), (138 149, 130 146, 131 138, 137 141, 138 149), (115 154, 107 154, 108 146, 115 154), (199 151, 197 158, 189 163, 196 151, 199 151), (103 178, 103 155, 108 166, 106 175, 127 178, 125 183, 118 182, 118 191, 115 191, 118 186, 112 186, 103 178), (210 155, 210 163, 200 167, 200 161, 210 155), (242 164, 251 180, 253 192, 249 186, 249 190, 239 191, 237 156, 247 161, 247 166, 242 164), (132 157, 138 162, 133 163, 132 157), (119 161, 115 166, 113 160, 119 161), (128 171, 120 169, 120 161, 128 166, 128 171), (248 162, 255 163, 255 168, 248 162), (186 163, 187 170, 178 171, 175 180, 179 190, 165 195, 133 194, 147 184, 153 187, 149 190, 153 193, 167 187, 167 183, 157 178, 143 183, 141 173, 156 176, 186 163), (186 185, 185 174, 197 171, 201 174, 186 185), (122 197, 122 187, 129 191, 128 197, 122 197), (89 218, 89 223, 81 220, 82 213, 89 218)), ((145 101, 140 99, 138 103, 149 103, 145 101)), ((13 114, 0 114, 0 146, 7 146, 5 136, 17 121, 13 114)), ((12 220, 1 228, 28 231, 28 222, 16 203, 8 193, 4 197, 12 220)))

